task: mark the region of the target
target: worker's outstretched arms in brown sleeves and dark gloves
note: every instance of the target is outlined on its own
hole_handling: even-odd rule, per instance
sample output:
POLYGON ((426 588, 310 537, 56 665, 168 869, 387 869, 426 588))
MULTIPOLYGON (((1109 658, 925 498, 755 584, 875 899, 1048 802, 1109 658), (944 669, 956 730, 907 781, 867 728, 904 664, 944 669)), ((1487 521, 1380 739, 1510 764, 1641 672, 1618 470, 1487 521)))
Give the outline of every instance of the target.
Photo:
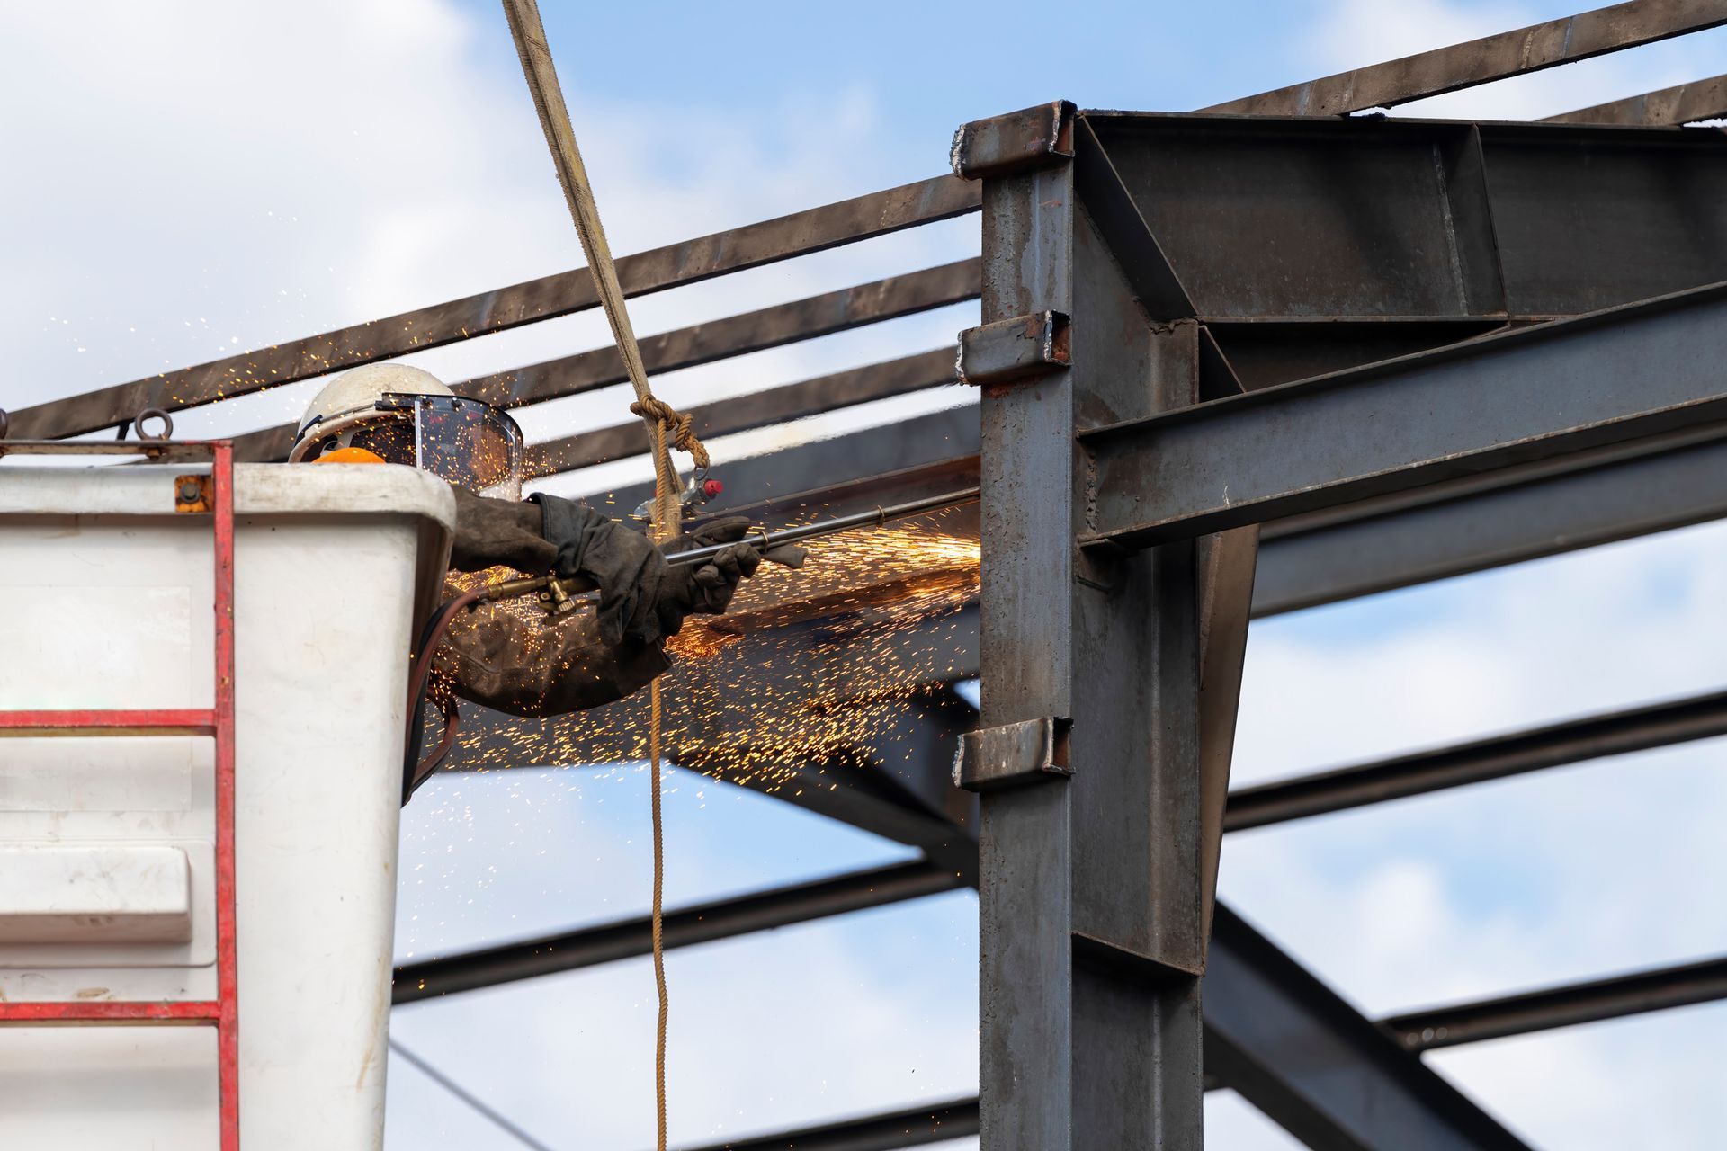
MULTIPOLYGON (((598 708, 644 687, 668 666, 663 638, 689 614, 725 611, 760 564, 756 550, 739 544, 699 566, 670 566, 642 533, 558 497, 513 504, 458 488, 456 513, 452 568, 551 569, 599 585, 598 613, 547 616, 516 602, 451 623, 433 656, 439 678, 463 699, 513 714, 598 708)), ((743 519, 717 521, 682 544, 725 544, 746 528, 743 519)))

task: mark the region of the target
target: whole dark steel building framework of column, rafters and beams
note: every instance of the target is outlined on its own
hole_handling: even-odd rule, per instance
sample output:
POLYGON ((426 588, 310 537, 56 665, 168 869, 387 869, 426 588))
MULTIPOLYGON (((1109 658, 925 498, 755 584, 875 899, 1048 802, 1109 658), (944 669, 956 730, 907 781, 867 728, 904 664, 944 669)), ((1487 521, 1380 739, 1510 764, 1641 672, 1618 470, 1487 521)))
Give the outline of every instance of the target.
MULTIPOLYGON (((922 861, 667 916, 675 947, 976 885, 981 1094, 725 1146, 1197 1148, 1202 1092, 1228 1085, 1313 1148, 1521 1148, 1420 1053, 1727 996, 1717 959, 1371 1022, 1212 904, 1228 832, 1727 733, 1710 694, 1228 790, 1250 618, 1727 516, 1727 143, 1679 126, 1727 114, 1727 78, 1537 124, 1349 116, 1720 24, 1727 0, 1635 0, 1204 114, 1053 102, 965 126, 955 176, 618 262, 644 295, 983 212, 979 259, 642 340, 672 371, 983 307, 958 355, 977 406, 734 461, 715 504, 789 525, 983 487, 960 521, 977 604, 895 638, 981 675, 981 718, 929 683, 846 770, 786 764, 822 787, 774 792, 922 861)), ((12 431, 124 433, 147 404, 594 305, 577 269, 41 404, 12 431)), ((623 378, 596 349, 458 392, 520 407, 623 378)), ((712 438, 953 380, 933 349, 694 414, 712 438)), ((535 473, 644 450, 636 423, 585 430, 539 445, 535 473)), ((824 604, 788 642, 867 602, 824 604)), ((470 763, 547 745, 530 721, 470 726, 470 763)), ((566 932, 414 963, 395 999, 646 949, 646 921, 566 932)))

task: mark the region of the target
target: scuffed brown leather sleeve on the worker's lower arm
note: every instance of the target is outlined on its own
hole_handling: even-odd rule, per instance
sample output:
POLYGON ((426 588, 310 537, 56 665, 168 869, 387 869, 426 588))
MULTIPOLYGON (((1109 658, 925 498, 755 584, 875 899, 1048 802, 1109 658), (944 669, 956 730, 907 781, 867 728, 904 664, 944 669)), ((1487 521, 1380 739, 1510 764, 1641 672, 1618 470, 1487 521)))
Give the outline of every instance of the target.
MULTIPOLYGON (((458 590, 446 583, 446 601, 458 590)), ((560 716, 623 699, 670 666, 661 644, 601 642, 594 613, 522 613, 484 604, 449 625, 435 680, 461 699, 516 716, 560 716)))

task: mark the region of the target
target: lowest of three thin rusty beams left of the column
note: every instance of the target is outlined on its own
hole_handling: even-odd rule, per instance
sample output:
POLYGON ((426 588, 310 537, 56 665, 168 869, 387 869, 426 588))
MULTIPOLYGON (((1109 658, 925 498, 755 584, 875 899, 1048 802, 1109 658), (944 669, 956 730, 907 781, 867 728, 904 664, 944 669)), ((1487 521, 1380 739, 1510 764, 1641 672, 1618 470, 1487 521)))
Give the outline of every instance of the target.
MULTIPOLYGON (((687 409, 687 414, 696 421, 701 437, 712 440, 948 383, 953 383, 953 349, 936 349, 701 404, 687 409)), ((551 476, 644 452, 648 452, 648 431, 639 419, 634 419, 528 449, 528 475, 551 476)))

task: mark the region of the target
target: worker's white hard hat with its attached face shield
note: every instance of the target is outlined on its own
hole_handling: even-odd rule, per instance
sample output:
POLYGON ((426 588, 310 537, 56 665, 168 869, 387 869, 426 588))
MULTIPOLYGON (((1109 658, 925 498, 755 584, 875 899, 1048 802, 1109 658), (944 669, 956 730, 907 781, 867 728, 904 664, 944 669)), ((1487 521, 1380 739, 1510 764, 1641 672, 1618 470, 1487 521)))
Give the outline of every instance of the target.
MULTIPOLYGON (((522 428, 484 400, 456 395, 408 364, 345 371, 306 406, 288 462, 338 449, 421 468, 478 495, 522 499, 522 428)), ((342 456, 332 456, 342 459, 342 456)))

